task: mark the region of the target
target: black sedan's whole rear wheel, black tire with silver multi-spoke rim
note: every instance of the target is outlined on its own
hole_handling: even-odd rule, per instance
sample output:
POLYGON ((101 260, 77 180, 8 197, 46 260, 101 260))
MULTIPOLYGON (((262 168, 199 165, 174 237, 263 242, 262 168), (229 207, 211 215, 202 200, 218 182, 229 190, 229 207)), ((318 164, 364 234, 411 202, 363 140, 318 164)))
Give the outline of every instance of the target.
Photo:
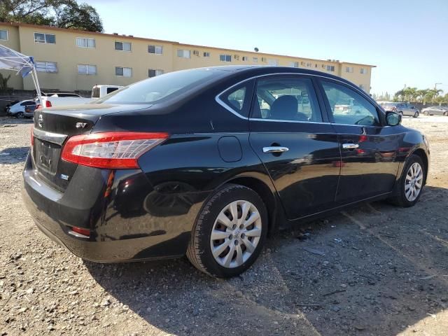
POLYGON ((188 259, 200 271, 217 278, 241 274, 260 255, 267 237, 267 218, 265 204, 255 191, 235 184, 223 186, 209 198, 197 218, 187 249, 188 259), (234 223, 232 210, 235 209, 240 225, 255 218, 247 229, 234 223), (244 209, 248 209, 246 221, 241 221, 239 216, 244 209), (215 257, 212 246, 217 248, 216 253, 222 250, 221 254, 215 257))

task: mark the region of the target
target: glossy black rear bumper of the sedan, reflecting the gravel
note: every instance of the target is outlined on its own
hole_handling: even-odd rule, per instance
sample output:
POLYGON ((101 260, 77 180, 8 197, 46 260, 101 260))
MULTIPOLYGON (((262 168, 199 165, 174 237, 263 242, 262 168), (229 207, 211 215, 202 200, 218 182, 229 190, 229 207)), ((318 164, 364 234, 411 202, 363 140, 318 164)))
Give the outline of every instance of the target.
MULTIPOLYGON (((170 202, 166 211, 160 211, 158 206, 155 214, 151 214, 152 209, 156 209, 151 200, 160 200, 164 195, 154 196, 155 190, 139 170, 109 172, 78 167, 70 185, 73 183, 76 187, 67 188, 64 193, 46 186, 38 180, 29 157, 23 172, 22 198, 45 235, 78 257, 94 262, 184 255, 202 203, 200 200, 207 197, 202 193, 187 195, 198 202, 191 202, 188 209, 183 207, 181 211, 170 202), (114 176, 114 181, 108 188, 110 176, 114 176), (102 181, 93 183, 92 179, 102 181), (90 195, 82 191, 85 190, 83 180, 93 186, 90 195), (92 197, 92 193, 97 195, 92 197), (89 228, 90 238, 71 235, 73 226, 89 228)), ((180 198, 185 200, 185 197, 180 198)))

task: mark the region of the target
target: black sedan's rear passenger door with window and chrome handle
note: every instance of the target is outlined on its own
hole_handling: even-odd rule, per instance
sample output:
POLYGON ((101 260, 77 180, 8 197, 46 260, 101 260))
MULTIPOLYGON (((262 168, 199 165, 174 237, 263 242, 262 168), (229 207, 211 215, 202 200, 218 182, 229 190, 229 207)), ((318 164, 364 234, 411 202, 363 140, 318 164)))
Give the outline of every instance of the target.
POLYGON ((271 75, 257 80, 250 142, 289 219, 334 206, 340 152, 322 109, 311 77, 271 75))

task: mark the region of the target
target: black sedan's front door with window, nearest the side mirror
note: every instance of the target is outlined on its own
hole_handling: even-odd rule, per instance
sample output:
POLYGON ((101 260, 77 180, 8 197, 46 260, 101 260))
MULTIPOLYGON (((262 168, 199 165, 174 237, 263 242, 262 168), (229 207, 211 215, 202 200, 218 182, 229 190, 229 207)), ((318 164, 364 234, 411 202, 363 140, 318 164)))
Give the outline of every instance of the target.
POLYGON ((320 83, 342 155, 337 204, 390 192, 399 165, 395 129, 384 127, 384 116, 362 92, 337 80, 321 79, 320 83), (336 107, 347 99, 353 102, 351 109, 340 113, 336 107))

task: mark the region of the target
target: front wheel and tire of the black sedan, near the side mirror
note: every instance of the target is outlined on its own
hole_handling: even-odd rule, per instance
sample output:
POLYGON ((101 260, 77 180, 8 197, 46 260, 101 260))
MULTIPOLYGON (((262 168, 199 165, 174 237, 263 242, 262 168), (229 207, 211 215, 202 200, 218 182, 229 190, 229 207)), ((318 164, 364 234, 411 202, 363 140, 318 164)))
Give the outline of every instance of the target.
POLYGON ((419 155, 409 156, 401 174, 400 181, 398 182, 398 190, 396 190, 395 196, 390 199, 391 202, 399 207, 414 207, 416 202, 419 202, 421 193, 423 193, 425 174, 425 166, 419 155), (419 169, 417 169, 418 167, 419 169), (414 176, 416 176, 416 178, 414 179, 414 182, 411 182, 413 179, 413 172, 415 172, 414 176), (409 176, 411 177, 410 180, 409 176), (413 186, 416 187, 418 193, 412 193, 413 186), (411 190, 412 197, 409 197, 409 189, 411 190))

